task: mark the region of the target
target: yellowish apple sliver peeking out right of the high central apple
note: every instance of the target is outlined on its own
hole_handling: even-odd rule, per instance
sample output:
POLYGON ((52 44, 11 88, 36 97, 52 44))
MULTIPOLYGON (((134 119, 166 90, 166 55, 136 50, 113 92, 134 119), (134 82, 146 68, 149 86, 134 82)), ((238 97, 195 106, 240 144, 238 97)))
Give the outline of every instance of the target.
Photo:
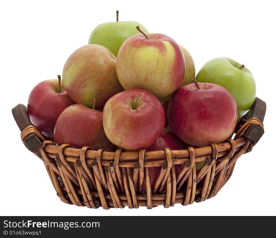
POLYGON ((185 75, 183 78, 183 81, 180 85, 182 87, 185 84, 189 84, 193 82, 193 79, 195 77, 195 67, 194 67, 194 60, 188 50, 184 48, 182 45, 178 44, 180 46, 180 49, 183 52, 184 59, 185 59, 185 75))

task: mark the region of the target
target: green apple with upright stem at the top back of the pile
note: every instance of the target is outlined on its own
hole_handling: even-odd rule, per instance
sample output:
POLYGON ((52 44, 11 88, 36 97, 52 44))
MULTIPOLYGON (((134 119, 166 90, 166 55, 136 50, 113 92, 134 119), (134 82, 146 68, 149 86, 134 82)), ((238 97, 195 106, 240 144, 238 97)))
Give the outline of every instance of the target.
POLYGON ((116 22, 106 22, 99 24, 90 34, 88 44, 103 45, 108 48, 114 56, 117 57, 120 46, 130 36, 137 34, 135 27, 139 25, 141 29, 148 33, 147 29, 135 21, 118 20, 119 11, 117 11, 116 22))

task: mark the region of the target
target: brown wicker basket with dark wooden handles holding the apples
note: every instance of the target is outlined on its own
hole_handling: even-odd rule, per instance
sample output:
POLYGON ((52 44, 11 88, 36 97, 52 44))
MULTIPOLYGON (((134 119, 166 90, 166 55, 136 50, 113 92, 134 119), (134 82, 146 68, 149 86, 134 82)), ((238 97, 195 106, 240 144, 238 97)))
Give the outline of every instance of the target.
POLYGON ((165 208, 214 197, 231 177, 236 160, 252 150, 263 135, 266 104, 259 98, 236 125, 234 139, 221 144, 187 150, 135 152, 116 150, 92 151, 89 147, 76 149, 68 144, 57 146, 31 124, 23 104, 12 109, 21 130, 24 145, 38 156, 46 167, 50 180, 61 201, 77 206, 104 209, 165 208), (196 171, 196 162, 205 161, 196 171), (183 164, 176 176, 175 165, 183 164), (151 189, 149 167, 161 171, 151 189), (146 192, 142 191, 146 181, 146 192), (166 192, 162 193, 166 186, 166 192))

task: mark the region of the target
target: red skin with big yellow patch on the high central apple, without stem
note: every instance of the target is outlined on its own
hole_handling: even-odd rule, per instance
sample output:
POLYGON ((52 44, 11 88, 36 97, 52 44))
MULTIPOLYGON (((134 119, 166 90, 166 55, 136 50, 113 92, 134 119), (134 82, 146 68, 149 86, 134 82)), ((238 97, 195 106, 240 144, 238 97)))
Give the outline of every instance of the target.
POLYGON ((124 89, 142 88, 166 98, 182 83, 185 60, 179 45, 164 34, 130 36, 117 55, 116 71, 124 89))

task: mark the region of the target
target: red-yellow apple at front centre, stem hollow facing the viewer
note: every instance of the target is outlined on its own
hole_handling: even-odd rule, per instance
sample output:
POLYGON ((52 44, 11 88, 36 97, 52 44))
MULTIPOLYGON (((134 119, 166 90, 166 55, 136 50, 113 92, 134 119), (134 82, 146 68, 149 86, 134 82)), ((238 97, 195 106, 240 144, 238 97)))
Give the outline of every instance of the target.
POLYGON ((104 132, 114 144, 126 150, 148 148, 165 125, 160 101, 143 89, 115 94, 104 106, 104 132))

